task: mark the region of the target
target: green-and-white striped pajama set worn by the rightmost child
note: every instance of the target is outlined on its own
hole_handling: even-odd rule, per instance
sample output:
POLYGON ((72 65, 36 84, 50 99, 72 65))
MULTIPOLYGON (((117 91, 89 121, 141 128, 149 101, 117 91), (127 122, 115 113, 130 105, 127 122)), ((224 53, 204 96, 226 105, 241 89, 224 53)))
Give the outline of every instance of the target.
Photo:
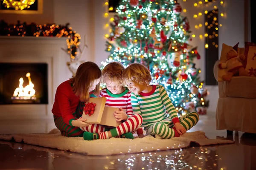
POLYGON ((172 129, 174 123, 180 122, 186 130, 191 129, 199 120, 198 113, 192 112, 178 118, 166 89, 162 85, 152 85, 148 94, 131 94, 131 104, 134 114, 143 117, 143 127, 147 134, 159 135, 164 139, 175 136, 172 129))

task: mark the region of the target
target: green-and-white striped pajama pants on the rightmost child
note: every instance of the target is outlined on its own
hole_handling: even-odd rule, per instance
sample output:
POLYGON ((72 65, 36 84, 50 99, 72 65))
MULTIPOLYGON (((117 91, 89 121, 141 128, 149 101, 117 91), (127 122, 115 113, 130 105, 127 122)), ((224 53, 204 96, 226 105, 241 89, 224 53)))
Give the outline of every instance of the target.
MULTIPOLYGON (((180 124, 185 127, 186 130, 191 129, 199 120, 198 113, 191 112, 179 117, 180 124)), ((174 124, 171 120, 163 122, 155 122, 146 129, 146 133, 149 135, 159 135, 164 139, 170 139, 175 136, 175 131, 172 129, 174 124)))

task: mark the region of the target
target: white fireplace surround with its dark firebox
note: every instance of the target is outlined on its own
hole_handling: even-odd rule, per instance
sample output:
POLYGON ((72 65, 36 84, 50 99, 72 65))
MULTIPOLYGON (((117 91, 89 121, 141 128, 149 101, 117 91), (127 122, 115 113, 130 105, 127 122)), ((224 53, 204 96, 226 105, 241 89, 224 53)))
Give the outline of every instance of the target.
POLYGON ((61 48, 67 47, 66 38, 55 37, 1 37, 0 63, 0 119, 53 119, 52 105, 55 92, 62 82, 72 77, 67 62, 70 58, 61 48), (17 67, 16 67, 17 66, 17 67), (15 68, 13 71, 11 68, 15 68), (4 72, 4 73, 3 73, 4 72), (11 97, 23 78, 23 88, 29 85, 26 74, 34 84, 33 100, 12 101, 11 97), (11 82, 3 79, 3 75, 11 82), (40 79, 39 79, 40 78, 40 79), (5 82, 1 82, 5 81, 5 82), (5 84, 5 85, 3 85, 5 84), (4 87, 3 87, 4 86, 4 87), (7 92, 7 90, 8 92, 7 92), (3 90, 5 90, 3 92, 3 90), (4 97, 3 97, 3 96, 4 97), (4 99, 2 99, 4 98, 4 99))

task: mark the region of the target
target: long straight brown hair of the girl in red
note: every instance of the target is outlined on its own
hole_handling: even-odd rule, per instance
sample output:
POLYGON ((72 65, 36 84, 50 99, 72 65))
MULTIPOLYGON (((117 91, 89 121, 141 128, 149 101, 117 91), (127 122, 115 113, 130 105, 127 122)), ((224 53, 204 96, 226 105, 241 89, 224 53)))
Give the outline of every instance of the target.
MULTIPOLYGON (((79 65, 79 68, 76 71, 76 75, 70 78, 70 83, 73 85, 72 90, 76 96, 80 97, 80 100, 87 102, 90 98, 88 91, 91 83, 94 80, 99 79, 102 76, 102 72, 99 69, 99 66, 94 62, 84 62, 79 65)), ((96 96, 99 95, 100 82, 96 85, 95 91, 93 94, 96 96)))

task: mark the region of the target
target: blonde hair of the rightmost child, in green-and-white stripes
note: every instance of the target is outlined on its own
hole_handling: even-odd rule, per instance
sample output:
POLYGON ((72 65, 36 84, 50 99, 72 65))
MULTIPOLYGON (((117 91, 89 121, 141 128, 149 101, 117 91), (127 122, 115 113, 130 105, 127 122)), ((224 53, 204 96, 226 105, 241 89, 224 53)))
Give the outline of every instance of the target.
POLYGON ((129 65, 122 74, 123 82, 137 82, 148 85, 152 78, 148 68, 139 63, 129 65))

